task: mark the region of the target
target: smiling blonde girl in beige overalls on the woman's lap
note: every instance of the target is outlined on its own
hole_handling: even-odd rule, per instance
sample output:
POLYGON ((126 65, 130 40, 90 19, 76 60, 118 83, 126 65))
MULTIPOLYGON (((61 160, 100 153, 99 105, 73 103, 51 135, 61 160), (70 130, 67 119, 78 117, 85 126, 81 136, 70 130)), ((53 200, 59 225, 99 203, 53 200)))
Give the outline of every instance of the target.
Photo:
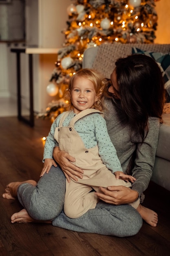
MULTIPOLYGON (((64 213, 69 218, 78 218, 96 207, 95 191, 101 193, 100 186, 131 187, 128 180, 135 181, 134 177, 123 173, 101 115, 105 87, 104 79, 97 71, 79 70, 68 85, 71 110, 56 118, 46 138, 41 176, 55 164, 55 146, 75 157, 74 164, 84 171, 83 178, 78 178, 77 182, 67 177, 64 213)), ((131 205, 137 208, 139 199, 131 205)))

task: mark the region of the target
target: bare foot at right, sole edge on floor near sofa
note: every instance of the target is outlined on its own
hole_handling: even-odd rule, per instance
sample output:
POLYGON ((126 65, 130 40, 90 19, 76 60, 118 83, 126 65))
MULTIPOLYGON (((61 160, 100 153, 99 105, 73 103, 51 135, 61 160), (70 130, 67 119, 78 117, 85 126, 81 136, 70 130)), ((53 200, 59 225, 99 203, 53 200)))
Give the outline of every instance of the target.
POLYGON ((150 226, 156 227, 158 223, 158 215, 155 211, 150 210, 139 204, 137 211, 140 213, 143 220, 145 220, 150 226))

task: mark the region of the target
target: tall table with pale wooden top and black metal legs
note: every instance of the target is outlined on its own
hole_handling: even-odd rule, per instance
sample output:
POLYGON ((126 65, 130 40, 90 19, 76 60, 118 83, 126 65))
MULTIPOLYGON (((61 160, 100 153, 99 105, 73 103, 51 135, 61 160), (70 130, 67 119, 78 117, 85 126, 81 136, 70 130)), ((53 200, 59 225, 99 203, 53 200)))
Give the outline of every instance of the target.
POLYGON ((18 119, 20 121, 34 126, 34 109, 33 109, 33 54, 57 54, 58 48, 11 48, 11 52, 16 53, 17 65, 17 106, 18 106, 18 119), (20 54, 28 54, 29 56, 29 119, 22 116, 21 104, 21 73, 20 73, 20 54))

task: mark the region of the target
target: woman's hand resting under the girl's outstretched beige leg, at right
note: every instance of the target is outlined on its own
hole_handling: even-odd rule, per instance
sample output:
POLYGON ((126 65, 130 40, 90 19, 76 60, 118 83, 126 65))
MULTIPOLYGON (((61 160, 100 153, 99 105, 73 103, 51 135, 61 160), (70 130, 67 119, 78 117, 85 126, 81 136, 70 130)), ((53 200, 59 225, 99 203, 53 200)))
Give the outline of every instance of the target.
POLYGON ((108 204, 129 204, 137 200, 139 194, 137 191, 129 189, 125 186, 108 186, 107 188, 100 187, 102 193, 95 194, 98 198, 108 204))

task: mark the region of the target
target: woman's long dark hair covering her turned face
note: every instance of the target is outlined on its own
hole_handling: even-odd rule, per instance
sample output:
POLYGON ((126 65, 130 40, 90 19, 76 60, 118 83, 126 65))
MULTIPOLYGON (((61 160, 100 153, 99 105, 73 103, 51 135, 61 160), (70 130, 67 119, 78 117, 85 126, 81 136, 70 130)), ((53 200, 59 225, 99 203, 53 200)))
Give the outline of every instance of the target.
POLYGON ((149 56, 134 54, 116 61, 117 84, 121 106, 131 130, 144 141, 148 133, 148 117, 162 122, 165 90, 158 64, 149 56))

